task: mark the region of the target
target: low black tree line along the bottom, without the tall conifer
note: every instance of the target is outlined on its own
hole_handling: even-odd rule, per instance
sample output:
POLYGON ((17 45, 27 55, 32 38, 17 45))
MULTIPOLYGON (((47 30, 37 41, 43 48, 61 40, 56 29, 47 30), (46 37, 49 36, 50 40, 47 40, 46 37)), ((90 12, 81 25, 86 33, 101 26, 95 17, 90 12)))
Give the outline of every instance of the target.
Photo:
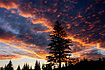
MULTIPOLYGON (((58 68, 52 67, 51 63, 49 64, 42 64, 36 60, 34 69, 29 64, 25 63, 22 68, 20 65, 16 68, 16 70, 59 70, 58 68)), ((92 70, 92 69, 104 69, 105 67, 105 58, 99 58, 99 60, 88 60, 88 59, 71 59, 69 63, 65 63, 62 65, 60 70, 92 70)), ((10 60, 5 67, 0 67, 0 70, 14 70, 12 61, 10 60)))

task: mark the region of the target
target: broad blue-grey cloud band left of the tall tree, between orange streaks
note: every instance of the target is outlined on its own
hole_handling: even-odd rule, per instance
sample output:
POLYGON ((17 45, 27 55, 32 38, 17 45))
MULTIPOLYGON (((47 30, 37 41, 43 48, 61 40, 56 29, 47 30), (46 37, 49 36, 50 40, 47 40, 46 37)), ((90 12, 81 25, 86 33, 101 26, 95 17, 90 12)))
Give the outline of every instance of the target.
POLYGON ((2 15, 6 15, 1 15, 1 20, 3 21, 0 21, 0 27, 2 28, 1 32, 5 32, 5 34, 2 34, 4 37, 5 35, 8 36, 10 33, 11 36, 13 35, 17 39, 27 43, 36 44, 37 46, 47 45, 47 35, 49 33, 37 33, 37 31, 44 31, 48 29, 47 27, 44 27, 41 24, 32 24, 30 20, 21 17, 18 14, 11 14, 8 10, 3 10, 3 12, 4 11, 7 11, 7 13, 0 13, 2 15))

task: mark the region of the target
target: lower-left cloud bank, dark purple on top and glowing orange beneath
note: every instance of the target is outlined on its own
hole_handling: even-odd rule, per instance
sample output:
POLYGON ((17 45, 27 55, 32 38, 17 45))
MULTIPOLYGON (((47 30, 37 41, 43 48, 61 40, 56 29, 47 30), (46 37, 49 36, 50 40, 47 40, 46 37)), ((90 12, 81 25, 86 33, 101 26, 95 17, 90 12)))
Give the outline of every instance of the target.
MULTIPOLYGON (((12 34, 10 32, 5 32, 2 29, 0 29, 0 33, 1 33, 1 35, 0 35, 0 42, 3 42, 3 43, 5 43, 8 46, 15 47, 15 48, 17 48, 19 50, 22 50, 22 51, 27 53, 27 54, 20 54, 20 53, 18 53, 18 56, 25 55, 25 56, 28 56, 28 57, 31 57, 31 58, 45 59, 45 56, 43 56, 43 58, 42 58, 41 55, 42 54, 46 55, 47 52, 44 50, 44 48, 42 46, 37 46, 38 44, 35 45, 35 43, 33 44, 32 42, 29 42, 29 41, 27 43, 26 43, 26 41, 21 41, 21 40, 19 40, 20 37, 16 38, 17 36, 15 36, 14 34, 12 34)), ((41 43, 39 43, 39 45, 40 44, 41 43)), ((10 52, 6 52, 6 53, 10 53, 10 52)), ((10 54, 13 54, 13 53, 10 53, 10 54)), ((15 53, 15 55, 16 55, 16 53, 15 53)), ((3 60, 3 58, 2 58, 2 60, 3 60)))

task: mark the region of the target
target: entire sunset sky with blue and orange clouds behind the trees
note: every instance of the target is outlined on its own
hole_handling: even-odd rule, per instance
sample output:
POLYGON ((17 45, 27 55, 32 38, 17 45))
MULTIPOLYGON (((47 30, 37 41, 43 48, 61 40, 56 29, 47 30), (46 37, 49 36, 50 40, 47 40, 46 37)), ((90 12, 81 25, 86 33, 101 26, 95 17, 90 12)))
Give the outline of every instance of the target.
POLYGON ((0 0, 0 66, 46 62, 59 20, 71 39, 71 57, 105 57, 104 0, 0 0))

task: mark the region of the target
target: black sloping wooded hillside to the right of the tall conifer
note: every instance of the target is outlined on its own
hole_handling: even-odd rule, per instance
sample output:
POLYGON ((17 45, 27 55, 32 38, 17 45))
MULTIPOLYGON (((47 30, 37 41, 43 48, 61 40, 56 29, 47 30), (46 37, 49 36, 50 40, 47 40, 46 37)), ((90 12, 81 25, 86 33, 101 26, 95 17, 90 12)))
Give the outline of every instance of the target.
MULTIPOLYGON (((104 68, 105 58, 99 58, 98 60, 87 60, 84 58, 76 64, 70 63, 62 67, 61 70, 103 70, 104 68)), ((53 70, 59 70, 59 68, 53 70)))

